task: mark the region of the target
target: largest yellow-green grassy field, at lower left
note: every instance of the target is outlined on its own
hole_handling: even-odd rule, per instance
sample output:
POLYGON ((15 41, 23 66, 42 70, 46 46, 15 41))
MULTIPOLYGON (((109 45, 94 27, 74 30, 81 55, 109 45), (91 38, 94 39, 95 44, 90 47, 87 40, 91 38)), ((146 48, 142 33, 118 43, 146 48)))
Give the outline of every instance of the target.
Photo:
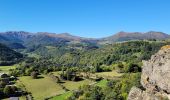
POLYGON ((30 76, 20 77, 19 80, 25 85, 28 92, 32 93, 35 100, 44 100, 46 97, 64 93, 64 90, 48 76, 32 79, 30 76))

